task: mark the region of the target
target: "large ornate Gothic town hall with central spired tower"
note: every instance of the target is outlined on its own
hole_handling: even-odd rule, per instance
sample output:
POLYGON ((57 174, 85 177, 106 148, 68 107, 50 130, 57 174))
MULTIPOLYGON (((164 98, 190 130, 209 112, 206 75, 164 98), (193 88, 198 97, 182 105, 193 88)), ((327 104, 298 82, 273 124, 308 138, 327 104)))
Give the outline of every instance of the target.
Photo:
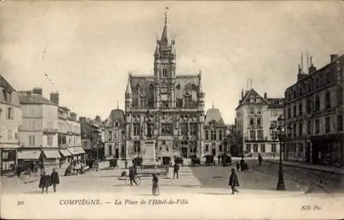
POLYGON ((146 120, 153 122, 157 157, 204 153, 204 91, 201 73, 176 74, 175 41, 167 33, 167 17, 154 52, 153 76, 129 74, 125 91, 126 155, 141 153, 147 135, 146 120), (149 118, 145 117, 147 110, 149 118))

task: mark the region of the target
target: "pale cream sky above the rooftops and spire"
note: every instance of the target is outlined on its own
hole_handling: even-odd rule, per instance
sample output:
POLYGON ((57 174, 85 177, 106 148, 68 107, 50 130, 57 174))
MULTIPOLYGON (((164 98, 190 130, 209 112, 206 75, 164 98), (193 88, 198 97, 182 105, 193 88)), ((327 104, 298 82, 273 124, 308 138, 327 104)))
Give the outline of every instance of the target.
MULTIPOLYGON (((43 87, 78 116, 103 120, 124 109, 127 72, 153 74, 153 52, 169 6, 177 74, 202 69, 206 109, 234 122, 252 78, 261 95, 283 96, 301 52, 321 67, 344 53, 343 1, 5 1, 0 72, 17 90, 43 87), (49 79, 45 78, 48 74, 49 79)), ((306 58, 304 56, 303 61, 306 58)))

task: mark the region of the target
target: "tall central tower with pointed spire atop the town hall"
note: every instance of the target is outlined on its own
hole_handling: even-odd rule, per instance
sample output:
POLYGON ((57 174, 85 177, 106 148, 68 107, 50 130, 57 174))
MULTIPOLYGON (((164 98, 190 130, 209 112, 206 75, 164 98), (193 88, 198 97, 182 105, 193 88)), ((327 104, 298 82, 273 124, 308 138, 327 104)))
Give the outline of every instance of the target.
POLYGON ((154 85, 154 107, 175 107, 175 41, 168 36, 167 11, 164 30, 155 47, 154 85))

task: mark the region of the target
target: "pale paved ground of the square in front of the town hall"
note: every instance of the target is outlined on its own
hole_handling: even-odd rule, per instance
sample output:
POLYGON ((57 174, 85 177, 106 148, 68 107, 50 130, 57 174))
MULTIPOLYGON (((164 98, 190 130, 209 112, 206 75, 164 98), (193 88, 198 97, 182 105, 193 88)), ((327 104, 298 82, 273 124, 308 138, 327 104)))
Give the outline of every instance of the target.
MULTIPOLYGON (((277 184, 277 164, 264 163, 258 166, 255 160, 248 161, 250 170, 238 172, 240 195, 302 195, 310 189, 310 192, 343 192, 341 176, 324 173, 321 171, 307 170, 304 168, 288 167, 285 170, 285 192, 275 190, 277 184), (319 179, 323 177, 324 188, 319 187, 319 179), (310 186, 310 188, 308 188, 310 186), (325 190, 324 190, 325 189, 325 190)), ((228 194, 228 177, 230 168, 234 166, 186 166, 180 169, 180 178, 173 179, 171 168, 167 177, 160 177, 160 190, 164 193, 197 192, 211 194, 228 194)), ((129 187, 124 180, 118 179, 125 169, 107 170, 105 166, 98 172, 89 171, 85 175, 63 176, 63 169, 59 170, 61 184, 59 192, 114 192, 150 195, 151 177, 142 177, 140 186, 129 187)), ((1 189, 3 193, 40 193, 38 188, 39 177, 3 177, 1 189)), ((50 188, 52 190, 52 188, 50 188)))

